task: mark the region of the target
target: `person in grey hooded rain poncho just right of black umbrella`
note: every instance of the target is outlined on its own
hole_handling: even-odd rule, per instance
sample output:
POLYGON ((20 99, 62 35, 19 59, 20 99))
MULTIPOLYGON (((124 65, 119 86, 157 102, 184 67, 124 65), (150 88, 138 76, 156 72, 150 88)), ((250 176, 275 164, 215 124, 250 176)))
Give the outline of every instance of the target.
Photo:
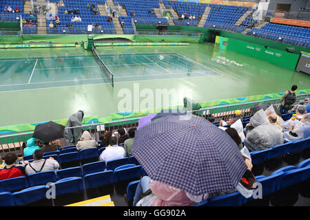
MULTIPOLYGON (((81 126, 83 118, 84 118, 84 112, 83 111, 80 110, 80 111, 74 113, 73 115, 70 116, 70 118, 66 124, 66 127, 81 126)), ((81 135, 82 135, 81 127, 76 128, 76 129, 65 129, 66 140, 70 143, 78 142, 81 135)))

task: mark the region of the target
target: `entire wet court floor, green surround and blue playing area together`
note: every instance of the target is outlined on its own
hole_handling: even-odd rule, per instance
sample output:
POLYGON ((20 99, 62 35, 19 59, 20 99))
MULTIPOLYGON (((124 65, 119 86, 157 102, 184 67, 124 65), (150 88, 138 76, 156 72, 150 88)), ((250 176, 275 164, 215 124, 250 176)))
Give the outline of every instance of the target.
MULTIPOLYGON (((114 87, 92 52, 82 47, 3 50, 0 54, 1 126, 61 120, 83 109, 104 118, 120 112, 121 89, 178 89, 176 104, 280 93, 291 85, 308 89, 307 74, 213 43, 183 46, 96 47, 114 74, 114 87), (26 111, 20 111, 26 109, 26 111)), ((139 96, 139 95, 138 95, 139 96)), ((138 97, 137 96, 137 97, 138 97)), ((141 97, 143 100, 143 97, 141 97)), ((171 103, 169 103, 171 104, 171 103)), ((134 108, 132 111, 141 109, 134 108)))

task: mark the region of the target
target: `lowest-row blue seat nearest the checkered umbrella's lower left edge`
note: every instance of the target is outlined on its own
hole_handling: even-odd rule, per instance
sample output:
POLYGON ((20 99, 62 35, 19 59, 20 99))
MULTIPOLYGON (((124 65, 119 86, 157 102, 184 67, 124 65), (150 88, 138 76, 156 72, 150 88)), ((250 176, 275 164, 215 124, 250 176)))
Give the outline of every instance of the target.
POLYGON ((126 164, 114 169, 114 182, 141 177, 141 165, 126 164))

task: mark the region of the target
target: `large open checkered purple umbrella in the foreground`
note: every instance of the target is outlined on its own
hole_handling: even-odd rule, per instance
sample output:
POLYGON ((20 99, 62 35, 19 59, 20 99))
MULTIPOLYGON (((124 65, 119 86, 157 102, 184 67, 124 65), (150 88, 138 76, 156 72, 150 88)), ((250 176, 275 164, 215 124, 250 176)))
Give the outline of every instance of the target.
POLYGON ((136 130, 134 157, 151 179, 192 195, 234 189, 247 170, 234 140, 204 118, 185 117, 168 115, 136 130))

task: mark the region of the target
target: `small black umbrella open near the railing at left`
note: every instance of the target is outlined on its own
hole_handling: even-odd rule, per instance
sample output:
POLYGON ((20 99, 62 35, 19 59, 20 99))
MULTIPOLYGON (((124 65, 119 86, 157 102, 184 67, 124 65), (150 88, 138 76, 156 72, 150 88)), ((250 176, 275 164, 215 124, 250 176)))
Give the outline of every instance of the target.
POLYGON ((64 137, 64 131, 65 126, 50 121, 43 124, 38 124, 34 129, 32 137, 48 143, 51 140, 56 140, 58 138, 64 137))

